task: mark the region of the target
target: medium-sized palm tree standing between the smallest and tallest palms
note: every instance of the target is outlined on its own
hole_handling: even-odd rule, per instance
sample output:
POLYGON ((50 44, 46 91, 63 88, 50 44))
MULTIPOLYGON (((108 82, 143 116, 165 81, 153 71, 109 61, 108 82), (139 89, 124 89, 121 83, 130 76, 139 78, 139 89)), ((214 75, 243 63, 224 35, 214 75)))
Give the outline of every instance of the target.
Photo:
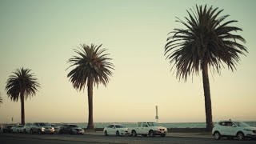
MULTIPOLYGON (((111 58, 107 58, 109 54, 103 54, 106 49, 100 49, 100 46, 94 46, 91 44, 87 46, 82 44, 82 49, 74 50, 78 56, 73 56, 68 60, 71 66, 75 66, 73 70, 67 75, 70 78, 70 82, 76 90, 84 90, 87 85, 88 90, 88 107, 89 117, 87 129, 94 129, 93 120, 93 87, 102 83, 104 86, 109 82, 109 76, 112 75, 111 70, 114 70, 114 65, 111 62, 111 58)), ((67 69, 68 69, 67 68, 67 69)))

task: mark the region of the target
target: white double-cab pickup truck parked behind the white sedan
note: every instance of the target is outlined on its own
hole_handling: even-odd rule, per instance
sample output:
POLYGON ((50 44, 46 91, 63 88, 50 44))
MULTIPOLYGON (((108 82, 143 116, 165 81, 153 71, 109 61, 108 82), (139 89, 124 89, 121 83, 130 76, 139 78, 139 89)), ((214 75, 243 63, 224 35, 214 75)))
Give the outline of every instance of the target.
POLYGON ((154 137, 155 135, 161 135, 165 137, 167 134, 167 128, 162 126, 157 126, 155 122, 138 122, 137 127, 128 128, 129 133, 136 137, 137 135, 142 135, 146 137, 154 137))

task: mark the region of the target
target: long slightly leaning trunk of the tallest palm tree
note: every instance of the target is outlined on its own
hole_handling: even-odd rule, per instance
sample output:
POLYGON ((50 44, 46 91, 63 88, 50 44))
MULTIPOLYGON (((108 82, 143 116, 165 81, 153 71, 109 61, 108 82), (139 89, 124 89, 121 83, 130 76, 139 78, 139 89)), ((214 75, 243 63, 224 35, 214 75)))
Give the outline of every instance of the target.
POLYGON ((203 90, 205 95, 205 108, 206 108, 206 131, 213 129, 213 118, 211 111, 211 100, 210 100, 210 83, 208 77, 208 66, 206 63, 202 64, 202 82, 203 90))

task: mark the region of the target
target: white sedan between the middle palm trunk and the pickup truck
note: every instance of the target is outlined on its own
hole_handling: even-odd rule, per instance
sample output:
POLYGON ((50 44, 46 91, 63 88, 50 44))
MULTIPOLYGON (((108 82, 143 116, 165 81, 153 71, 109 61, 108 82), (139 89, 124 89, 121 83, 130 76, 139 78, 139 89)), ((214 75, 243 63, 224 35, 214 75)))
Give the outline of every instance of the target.
POLYGON ((113 134, 116 136, 120 136, 120 135, 130 135, 130 133, 128 132, 128 128, 126 126, 122 126, 119 124, 113 124, 110 126, 106 126, 103 130, 103 133, 105 136, 113 134))

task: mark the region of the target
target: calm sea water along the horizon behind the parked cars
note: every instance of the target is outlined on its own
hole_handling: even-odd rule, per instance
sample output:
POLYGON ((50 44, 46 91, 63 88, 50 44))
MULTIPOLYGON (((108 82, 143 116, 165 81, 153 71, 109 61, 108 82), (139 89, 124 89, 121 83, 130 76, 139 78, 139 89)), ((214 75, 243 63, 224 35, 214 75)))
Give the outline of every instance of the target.
MULTIPOLYGON (((127 127, 135 127, 137 125, 137 122, 95 122, 94 126, 95 128, 104 128, 106 126, 109 126, 110 124, 118 123, 122 124, 127 127)), ((215 122, 214 122, 215 123, 215 122)), ((250 126, 256 127, 256 122, 246 122, 250 126)), ((77 124, 78 126, 82 128, 87 127, 87 123, 73 123, 77 124)), ((205 128, 206 123, 205 122, 174 122, 174 123, 158 123, 159 126, 165 126, 167 128, 205 128)))

